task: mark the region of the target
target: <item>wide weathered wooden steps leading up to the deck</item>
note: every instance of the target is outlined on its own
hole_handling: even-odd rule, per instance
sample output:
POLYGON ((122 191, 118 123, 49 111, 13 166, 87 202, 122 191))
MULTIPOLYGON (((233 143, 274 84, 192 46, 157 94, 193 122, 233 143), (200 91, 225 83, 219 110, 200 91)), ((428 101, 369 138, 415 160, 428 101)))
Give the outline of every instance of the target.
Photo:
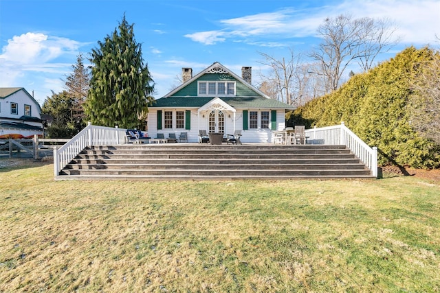
POLYGON ((344 145, 199 145, 196 143, 89 147, 57 180, 371 179, 344 145))

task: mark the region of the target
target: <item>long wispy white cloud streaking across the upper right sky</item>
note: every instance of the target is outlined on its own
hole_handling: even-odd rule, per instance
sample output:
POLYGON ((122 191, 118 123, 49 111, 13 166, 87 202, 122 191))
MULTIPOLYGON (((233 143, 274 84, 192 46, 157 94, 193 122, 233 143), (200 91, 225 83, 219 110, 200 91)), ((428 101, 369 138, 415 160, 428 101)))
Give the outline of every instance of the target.
MULTIPOLYGON (((314 36, 318 26, 327 17, 350 14, 355 18, 389 19, 397 26, 396 35, 402 43, 425 45, 440 34, 440 2, 438 0, 344 0, 307 10, 285 8, 276 12, 246 15, 220 20, 219 30, 185 35, 195 42, 214 45, 227 39, 249 44, 271 46, 274 36, 296 38, 314 36), (258 42, 256 38, 260 38, 258 42), (243 38, 245 40, 243 40, 243 38), (261 42, 267 38, 267 43, 261 42)), ((277 41, 279 44, 280 42, 277 41)), ((273 45, 272 45, 273 46, 273 45)))

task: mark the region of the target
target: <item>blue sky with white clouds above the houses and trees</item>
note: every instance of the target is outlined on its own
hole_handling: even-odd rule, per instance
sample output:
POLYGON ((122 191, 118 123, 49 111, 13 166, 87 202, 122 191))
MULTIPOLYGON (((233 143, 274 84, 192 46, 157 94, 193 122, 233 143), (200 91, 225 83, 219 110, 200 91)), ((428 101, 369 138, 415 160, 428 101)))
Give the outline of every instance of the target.
POLYGON ((259 52, 307 52, 320 42, 318 26, 339 14, 395 23, 399 44, 377 61, 410 45, 438 48, 440 37, 440 0, 0 0, 0 87, 24 87, 43 104, 63 90, 78 54, 88 58, 124 13, 156 98, 179 84, 182 67, 196 74, 217 61, 239 75, 251 66, 256 85, 267 70, 259 52))

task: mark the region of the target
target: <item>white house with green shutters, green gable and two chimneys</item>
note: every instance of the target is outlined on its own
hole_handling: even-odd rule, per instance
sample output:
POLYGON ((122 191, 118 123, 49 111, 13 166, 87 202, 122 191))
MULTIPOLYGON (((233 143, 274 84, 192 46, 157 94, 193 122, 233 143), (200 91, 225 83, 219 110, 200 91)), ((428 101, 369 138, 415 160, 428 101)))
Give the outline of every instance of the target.
POLYGON ((182 69, 183 84, 148 107, 148 134, 188 133, 188 142, 199 141, 199 130, 233 134, 241 141, 272 141, 272 130, 285 128, 285 113, 294 107, 252 86, 252 67, 242 67, 241 77, 219 62, 192 76, 182 69))

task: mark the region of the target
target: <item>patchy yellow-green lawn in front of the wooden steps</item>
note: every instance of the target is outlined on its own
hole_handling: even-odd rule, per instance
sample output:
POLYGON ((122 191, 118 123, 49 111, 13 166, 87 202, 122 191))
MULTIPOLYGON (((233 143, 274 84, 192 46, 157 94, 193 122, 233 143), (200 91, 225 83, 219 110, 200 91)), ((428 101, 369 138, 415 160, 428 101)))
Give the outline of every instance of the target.
POLYGON ((439 292, 440 184, 0 169, 0 292, 439 292))

